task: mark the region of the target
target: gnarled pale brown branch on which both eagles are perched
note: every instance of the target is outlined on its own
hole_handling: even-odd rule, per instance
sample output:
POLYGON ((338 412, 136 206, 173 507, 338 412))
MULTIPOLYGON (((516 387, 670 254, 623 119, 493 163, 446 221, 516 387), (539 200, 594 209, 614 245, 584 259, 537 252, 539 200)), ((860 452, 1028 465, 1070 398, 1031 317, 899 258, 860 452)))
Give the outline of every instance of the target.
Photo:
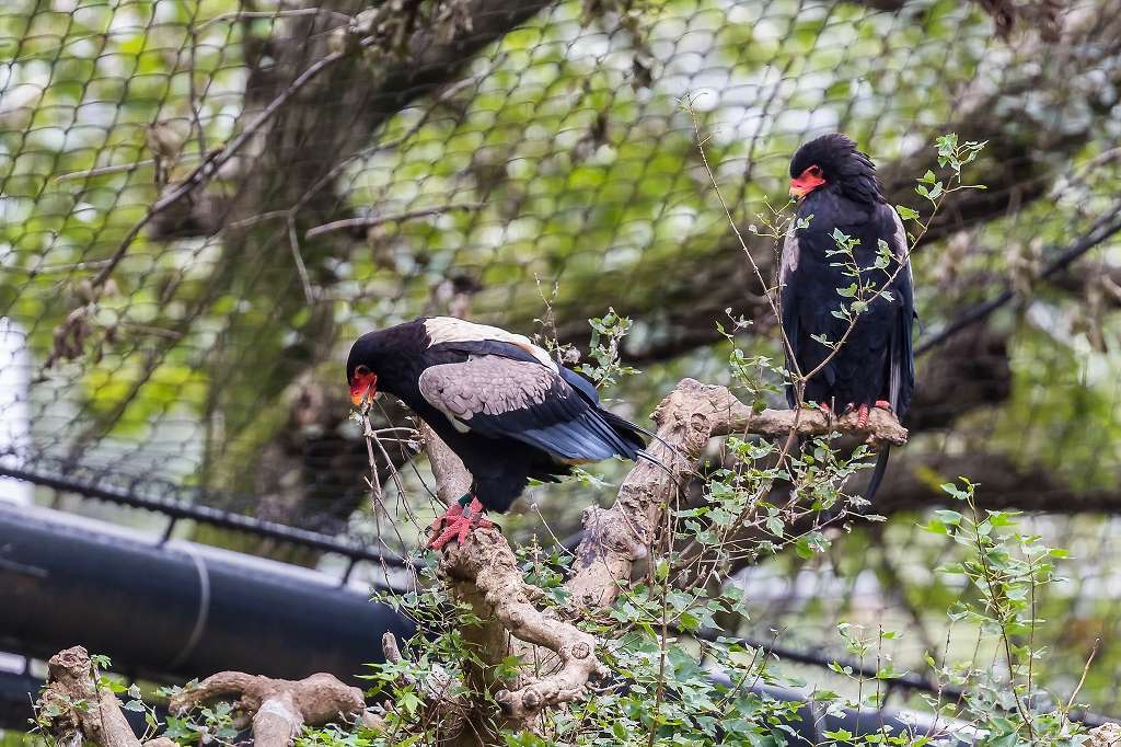
MULTIPOLYGON (((837 430, 876 442, 905 443, 907 431, 893 416, 873 412, 865 427, 854 415, 832 421, 813 411, 753 412, 724 387, 684 379, 655 413, 660 441, 651 451, 663 464, 639 462, 619 491, 615 505, 606 510, 590 508, 590 536, 581 545, 577 569, 569 583, 576 607, 610 605, 620 583, 630 579, 630 569, 643 548, 652 543, 661 511, 677 485, 693 471, 708 440, 730 433, 753 433, 770 437, 825 435, 837 430), (670 444, 673 450, 665 444, 670 444)), ((470 477, 434 433, 424 431, 439 497, 451 500, 463 495, 470 477)), ((456 594, 474 607, 484 620, 471 635, 489 660, 501 660, 510 646, 504 634, 538 646, 555 656, 555 668, 544 677, 524 675, 516 690, 502 689, 508 722, 531 726, 543 709, 583 697, 589 681, 603 672, 596 657, 596 640, 574 625, 543 612, 532 603, 536 596, 522 579, 518 562, 506 538, 495 529, 476 529, 463 544, 450 545, 439 564, 456 594), (498 634, 498 635, 495 635, 498 634)), ((517 645, 513 651, 520 653, 517 645)), ((525 648, 527 652, 531 649, 525 648)), ((469 684, 500 686, 487 673, 469 671, 469 684)))

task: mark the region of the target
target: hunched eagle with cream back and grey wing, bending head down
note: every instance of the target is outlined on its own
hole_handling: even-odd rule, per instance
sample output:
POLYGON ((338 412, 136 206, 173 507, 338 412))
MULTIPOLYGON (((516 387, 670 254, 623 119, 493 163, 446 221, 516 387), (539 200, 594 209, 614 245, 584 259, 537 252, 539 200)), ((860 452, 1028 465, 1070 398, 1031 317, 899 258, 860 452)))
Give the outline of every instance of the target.
POLYGON ((433 525, 433 548, 489 525, 483 509, 506 511, 530 478, 556 482, 576 464, 638 459, 646 446, 642 428, 604 409, 590 381, 528 338, 451 316, 363 334, 346 382, 354 405, 379 391, 398 397, 471 472, 471 491, 433 525))

